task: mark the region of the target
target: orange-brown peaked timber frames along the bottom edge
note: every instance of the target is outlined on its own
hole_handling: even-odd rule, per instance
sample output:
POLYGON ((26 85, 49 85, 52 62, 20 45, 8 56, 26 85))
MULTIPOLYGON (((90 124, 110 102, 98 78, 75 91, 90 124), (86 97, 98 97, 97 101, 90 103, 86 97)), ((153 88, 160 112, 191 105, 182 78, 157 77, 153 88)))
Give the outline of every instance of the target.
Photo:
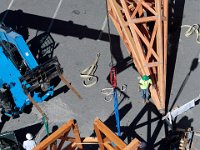
POLYGON ((73 119, 70 119, 39 143, 34 150, 82 150, 83 144, 99 144, 100 150, 138 150, 140 147, 141 142, 137 138, 133 139, 129 145, 126 145, 98 118, 94 121, 94 130, 97 137, 80 138, 78 125, 73 119), (74 137, 68 136, 71 130, 74 133, 74 137), (65 142, 67 142, 67 145, 65 142))

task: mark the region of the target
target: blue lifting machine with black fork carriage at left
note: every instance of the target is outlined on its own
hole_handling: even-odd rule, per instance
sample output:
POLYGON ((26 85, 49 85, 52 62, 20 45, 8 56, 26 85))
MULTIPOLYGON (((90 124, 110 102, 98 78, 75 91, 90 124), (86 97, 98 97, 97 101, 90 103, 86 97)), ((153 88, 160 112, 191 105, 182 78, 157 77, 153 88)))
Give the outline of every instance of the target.
POLYGON ((81 98, 62 73, 57 57, 38 65, 23 37, 0 27, 0 107, 4 114, 14 116, 33 100, 36 104, 53 96, 50 81, 57 76, 81 98))

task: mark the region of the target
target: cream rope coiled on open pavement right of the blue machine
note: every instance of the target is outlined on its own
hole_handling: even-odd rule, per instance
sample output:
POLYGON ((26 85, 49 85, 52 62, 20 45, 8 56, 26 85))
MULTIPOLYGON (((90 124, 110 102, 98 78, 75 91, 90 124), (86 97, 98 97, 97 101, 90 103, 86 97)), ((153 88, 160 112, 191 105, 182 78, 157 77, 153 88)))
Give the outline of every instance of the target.
POLYGON ((83 79, 83 86, 84 87, 91 87, 95 85, 98 81, 98 77, 94 75, 95 71, 97 70, 97 63, 99 61, 100 53, 97 54, 95 61, 92 63, 91 66, 85 68, 81 73, 80 77, 83 79))

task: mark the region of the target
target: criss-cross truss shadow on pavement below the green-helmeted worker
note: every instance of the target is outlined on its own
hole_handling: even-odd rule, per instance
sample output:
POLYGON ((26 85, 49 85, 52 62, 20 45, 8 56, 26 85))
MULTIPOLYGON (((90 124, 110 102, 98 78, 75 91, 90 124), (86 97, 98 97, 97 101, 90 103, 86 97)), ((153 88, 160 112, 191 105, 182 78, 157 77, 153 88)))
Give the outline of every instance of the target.
POLYGON ((163 121, 161 120, 161 115, 156 109, 156 107, 152 104, 146 104, 142 110, 138 113, 135 119, 128 125, 121 127, 122 131, 122 140, 127 140, 128 143, 132 141, 133 138, 137 138, 142 142, 145 142, 147 145, 147 149, 154 149, 154 143, 156 142, 160 130, 163 127, 163 121), (147 113, 147 121, 139 123, 140 120, 147 113), (152 113, 156 115, 155 118, 152 118, 152 113), (152 131, 152 123, 157 122, 157 125, 152 131), (145 141, 135 130, 143 127, 147 127, 147 141, 145 141))

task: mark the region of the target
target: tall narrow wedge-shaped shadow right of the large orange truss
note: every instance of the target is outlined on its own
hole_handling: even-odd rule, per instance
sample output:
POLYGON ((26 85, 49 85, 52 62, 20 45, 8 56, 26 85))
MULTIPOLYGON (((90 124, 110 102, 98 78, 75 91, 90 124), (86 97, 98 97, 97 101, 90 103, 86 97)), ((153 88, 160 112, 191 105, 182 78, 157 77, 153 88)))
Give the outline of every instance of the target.
POLYGON ((168 19, 168 50, 167 50, 167 82, 166 82, 166 112, 172 88, 174 69, 176 64, 178 44, 181 32, 185 0, 169 1, 168 19))

